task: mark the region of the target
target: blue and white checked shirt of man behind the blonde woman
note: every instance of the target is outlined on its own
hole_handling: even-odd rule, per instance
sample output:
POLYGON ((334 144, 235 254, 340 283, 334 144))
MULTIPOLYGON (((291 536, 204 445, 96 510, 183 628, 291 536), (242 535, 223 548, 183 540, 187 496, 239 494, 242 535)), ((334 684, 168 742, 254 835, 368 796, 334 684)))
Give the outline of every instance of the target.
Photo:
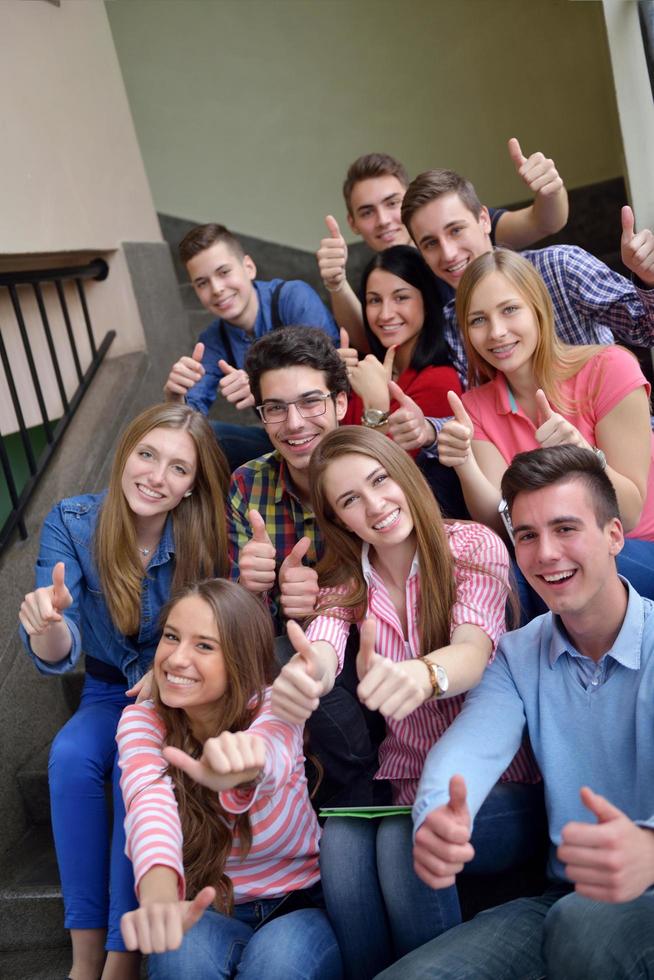
MULTIPOLYGON (((654 289, 641 289, 576 245, 520 253, 541 274, 554 307, 556 332, 566 344, 612 344, 615 338, 650 347, 654 342, 654 289)), ((454 309, 443 307, 445 340, 464 388, 468 358, 454 309)), ((440 432, 446 419, 429 421, 440 432)), ((435 446, 425 450, 436 455, 435 446)))

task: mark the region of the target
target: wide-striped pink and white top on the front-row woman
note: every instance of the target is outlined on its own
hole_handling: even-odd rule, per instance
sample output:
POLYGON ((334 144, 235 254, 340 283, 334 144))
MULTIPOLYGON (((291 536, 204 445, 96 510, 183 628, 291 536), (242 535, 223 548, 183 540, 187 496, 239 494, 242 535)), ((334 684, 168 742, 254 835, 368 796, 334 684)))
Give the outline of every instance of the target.
MULTIPOLYGON (((309 888, 320 878, 320 828, 304 776, 302 726, 271 713, 267 690, 261 711, 248 730, 266 743, 261 780, 252 789, 218 794, 228 814, 250 811, 250 851, 246 857, 241 855, 235 834, 225 867, 236 904, 277 898, 309 888)), ((182 829, 168 763, 162 755, 165 739, 164 724, 151 701, 125 708, 116 734, 126 811, 125 853, 134 865, 137 894, 143 875, 155 865, 164 865, 177 872, 183 898, 182 829)))

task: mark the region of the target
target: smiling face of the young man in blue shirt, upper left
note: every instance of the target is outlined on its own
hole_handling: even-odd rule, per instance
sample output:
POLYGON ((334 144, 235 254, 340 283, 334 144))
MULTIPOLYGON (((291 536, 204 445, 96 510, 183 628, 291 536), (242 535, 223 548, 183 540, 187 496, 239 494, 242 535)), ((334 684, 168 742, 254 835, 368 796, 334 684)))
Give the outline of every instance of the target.
POLYGON ((241 258, 224 242, 215 242, 186 263, 195 293, 215 316, 251 330, 259 301, 252 285, 257 270, 249 255, 241 258))

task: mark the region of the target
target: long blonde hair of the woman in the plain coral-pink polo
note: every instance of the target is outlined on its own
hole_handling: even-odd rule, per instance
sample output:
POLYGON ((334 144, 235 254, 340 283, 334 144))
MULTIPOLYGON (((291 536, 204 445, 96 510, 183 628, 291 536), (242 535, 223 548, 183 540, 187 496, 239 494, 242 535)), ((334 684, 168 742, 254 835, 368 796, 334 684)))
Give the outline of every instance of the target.
POLYGON ((559 340, 554 328, 552 300, 542 277, 531 262, 507 249, 496 248, 476 258, 464 272, 456 292, 456 317, 468 357, 469 387, 491 381, 497 374, 472 346, 468 324, 472 294, 492 272, 501 273, 515 286, 536 317, 538 343, 532 364, 536 386, 543 389, 550 404, 564 412, 574 412, 578 406, 565 398, 561 382, 574 377, 591 357, 606 348, 603 344, 572 345, 559 340))

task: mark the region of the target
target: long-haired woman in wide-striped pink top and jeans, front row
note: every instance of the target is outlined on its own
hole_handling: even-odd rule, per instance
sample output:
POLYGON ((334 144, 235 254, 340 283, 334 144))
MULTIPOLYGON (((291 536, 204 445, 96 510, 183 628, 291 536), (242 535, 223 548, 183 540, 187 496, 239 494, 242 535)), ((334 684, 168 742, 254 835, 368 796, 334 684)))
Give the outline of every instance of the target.
POLYGON ((298 964, 338 980, 302 726, 270 712, 270 616, 212 579, 164 623, 153 700, 128 707, 117 735, 140 905, 123 916, 125 945, 153 954, 154 980, 287 980, 298 964))

